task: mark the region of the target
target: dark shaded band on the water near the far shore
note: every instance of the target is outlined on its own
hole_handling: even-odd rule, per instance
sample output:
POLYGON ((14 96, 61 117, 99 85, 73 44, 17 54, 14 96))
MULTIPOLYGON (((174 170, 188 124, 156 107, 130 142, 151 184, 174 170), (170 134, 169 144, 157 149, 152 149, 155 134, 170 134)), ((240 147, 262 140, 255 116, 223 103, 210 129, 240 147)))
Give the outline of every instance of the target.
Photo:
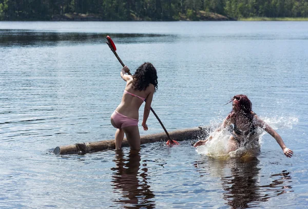
POLYGON ((72 44, 103 44, 106 36, 117 43, 172 42, 175 35, 146 33, 85 33, 36 30, 0 30, 0 46, 57 46, 72 44))

